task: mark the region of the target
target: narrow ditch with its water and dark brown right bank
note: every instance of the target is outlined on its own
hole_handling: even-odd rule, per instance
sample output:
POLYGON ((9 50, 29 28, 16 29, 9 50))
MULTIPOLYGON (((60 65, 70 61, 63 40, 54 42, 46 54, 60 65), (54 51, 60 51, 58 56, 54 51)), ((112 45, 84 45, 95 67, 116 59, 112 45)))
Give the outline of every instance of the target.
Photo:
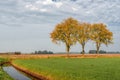
POLYGON ((2 63, 0 65, 3 70, 10 75, 14 80, 48 80, 42 76, 33 74, 31 72, 26 72, 14 65, 11 65, 10 63, 2 63))

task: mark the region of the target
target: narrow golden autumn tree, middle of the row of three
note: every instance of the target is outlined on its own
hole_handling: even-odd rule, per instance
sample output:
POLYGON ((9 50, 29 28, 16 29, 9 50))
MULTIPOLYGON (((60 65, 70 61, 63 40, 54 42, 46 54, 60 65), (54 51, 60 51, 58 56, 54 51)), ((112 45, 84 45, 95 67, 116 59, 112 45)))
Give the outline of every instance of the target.
POLYGON ((85 53, 85 50, 84 50, 85 44, 90 39, 89 38, 90 29, 91 29, 90 26, 91 24, 89 23, 80 23, 79 26, 77 27, 76 38, 77 38, 77 41, 82 46, 82 54, 85 53))

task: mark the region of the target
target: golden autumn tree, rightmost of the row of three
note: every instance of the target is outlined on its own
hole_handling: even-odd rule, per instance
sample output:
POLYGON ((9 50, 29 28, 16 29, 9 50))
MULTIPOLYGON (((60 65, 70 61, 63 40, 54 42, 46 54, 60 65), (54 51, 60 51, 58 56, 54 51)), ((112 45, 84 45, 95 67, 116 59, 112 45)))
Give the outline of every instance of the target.
POLYGON ((95 23, 92 25, 91 40, 96 43, 96 53, 99 53, 101 44, 105 44, 107 46, 108 44, 112 43, 113 33, 107 29, 105 24, 95 23))

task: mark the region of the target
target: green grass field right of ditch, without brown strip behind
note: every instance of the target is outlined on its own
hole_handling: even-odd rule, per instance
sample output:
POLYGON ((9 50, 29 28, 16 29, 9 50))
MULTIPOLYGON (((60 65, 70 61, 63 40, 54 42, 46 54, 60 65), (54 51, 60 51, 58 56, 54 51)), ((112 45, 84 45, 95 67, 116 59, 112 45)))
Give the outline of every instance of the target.
POLYGON ((51 80, 120 80, 120 58, 49 58, 13 63, 51 80))

